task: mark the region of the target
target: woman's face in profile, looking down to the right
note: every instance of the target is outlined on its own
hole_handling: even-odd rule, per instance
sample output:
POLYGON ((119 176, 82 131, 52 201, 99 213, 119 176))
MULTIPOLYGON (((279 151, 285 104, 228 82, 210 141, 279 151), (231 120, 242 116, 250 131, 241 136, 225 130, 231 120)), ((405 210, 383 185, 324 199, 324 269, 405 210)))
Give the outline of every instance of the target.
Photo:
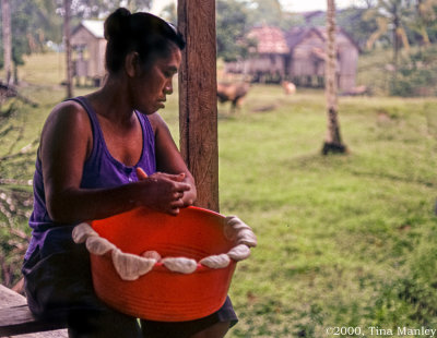
POLYGON ((172 48, 167 58, 157 58, 152 67, 132 79, 133 106, 150 114, 164 108, 167 95, 173 93, 173 77, 181 61, 179 48, 172 48))

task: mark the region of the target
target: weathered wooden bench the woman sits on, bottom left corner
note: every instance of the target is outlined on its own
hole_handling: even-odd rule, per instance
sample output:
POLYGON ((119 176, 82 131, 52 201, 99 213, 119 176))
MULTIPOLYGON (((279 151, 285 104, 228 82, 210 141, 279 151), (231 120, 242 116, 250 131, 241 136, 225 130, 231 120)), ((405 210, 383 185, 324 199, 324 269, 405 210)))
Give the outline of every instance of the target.
POLYGON ((0 285, 0 337, 67 338, 60 325, 36 319, 26 299, 0 285), (44 331, 44 333, 43 333, 44 331))

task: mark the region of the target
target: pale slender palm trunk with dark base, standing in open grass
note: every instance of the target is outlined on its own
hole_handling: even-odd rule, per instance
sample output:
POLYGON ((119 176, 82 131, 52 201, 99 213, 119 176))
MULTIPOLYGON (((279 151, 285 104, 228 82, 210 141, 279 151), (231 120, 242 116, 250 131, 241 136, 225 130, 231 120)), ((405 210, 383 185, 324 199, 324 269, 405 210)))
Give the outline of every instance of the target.
POLYGON ((326 64, 326 96, 328 110, 328 132, 324 140, 322 154, 346 153, 347 148, 342 143, 336 101, 336 52, 335 52, 335 3, 328 0, 327 12, 327 64, 326 64))

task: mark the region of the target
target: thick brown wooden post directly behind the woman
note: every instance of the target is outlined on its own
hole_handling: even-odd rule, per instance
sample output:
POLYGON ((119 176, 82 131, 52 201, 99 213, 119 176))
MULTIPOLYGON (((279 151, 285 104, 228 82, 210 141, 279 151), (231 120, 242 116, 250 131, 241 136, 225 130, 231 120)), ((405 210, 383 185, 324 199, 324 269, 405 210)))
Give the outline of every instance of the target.
POLYGON ((179 72, 180 152, 196 179, 197 205, 218 212, 215 1, 179 0, 187 47, 179 72))

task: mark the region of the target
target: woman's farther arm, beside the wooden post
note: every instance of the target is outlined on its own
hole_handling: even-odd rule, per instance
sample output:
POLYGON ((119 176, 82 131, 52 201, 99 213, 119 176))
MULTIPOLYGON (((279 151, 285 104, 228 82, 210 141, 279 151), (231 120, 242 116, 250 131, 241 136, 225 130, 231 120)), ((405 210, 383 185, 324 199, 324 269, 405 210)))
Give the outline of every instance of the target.
POLYGON ((192 205, 197 198, 194 179, 188 170, 167 124, 157 112, 149 116, 149 119, 155 133, 157 170, 172 174, 180 174, 179 180, 190 185, 190 190, 184 193, 184 205, 192 205))

